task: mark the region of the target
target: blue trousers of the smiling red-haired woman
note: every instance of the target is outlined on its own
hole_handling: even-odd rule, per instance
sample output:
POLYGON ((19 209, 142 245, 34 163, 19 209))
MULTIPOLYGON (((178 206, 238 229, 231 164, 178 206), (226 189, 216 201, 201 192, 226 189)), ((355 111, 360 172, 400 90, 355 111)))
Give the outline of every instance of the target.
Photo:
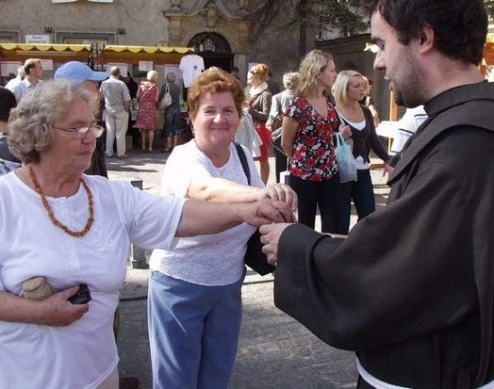
POLYGON ((242 321, 243 278, 204 286, 152 272, 147 317, 154 389, 227 388, 242 321))

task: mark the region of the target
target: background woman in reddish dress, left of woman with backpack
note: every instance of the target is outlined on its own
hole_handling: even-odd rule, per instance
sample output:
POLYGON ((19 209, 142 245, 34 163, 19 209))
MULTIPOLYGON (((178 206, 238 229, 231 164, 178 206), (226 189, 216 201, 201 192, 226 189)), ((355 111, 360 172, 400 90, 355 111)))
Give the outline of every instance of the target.
POLYGON ((154 131, 158 125, 157 107, 158 96, 160 94, 157 85, 158 73, 150 70, 146 75, 147 81, 143 81, 137 90, 139 108, 137 108, 136 128, 141 133, 142 151, 153 152, 154 131), (146 149, 146 138, 149 140, 146 149))

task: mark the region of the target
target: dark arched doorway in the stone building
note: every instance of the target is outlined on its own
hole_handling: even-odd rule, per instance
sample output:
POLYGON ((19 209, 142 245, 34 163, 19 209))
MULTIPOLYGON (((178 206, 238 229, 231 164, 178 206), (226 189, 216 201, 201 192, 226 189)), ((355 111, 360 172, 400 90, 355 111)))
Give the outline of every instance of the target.
POLYGON ((189 48, 195 48, 196 54, 204 58, 204 66, 217 66, 226 72, 232 70, 234 54, 230 45, 216 32, 201 32, 190 39, 189 48))

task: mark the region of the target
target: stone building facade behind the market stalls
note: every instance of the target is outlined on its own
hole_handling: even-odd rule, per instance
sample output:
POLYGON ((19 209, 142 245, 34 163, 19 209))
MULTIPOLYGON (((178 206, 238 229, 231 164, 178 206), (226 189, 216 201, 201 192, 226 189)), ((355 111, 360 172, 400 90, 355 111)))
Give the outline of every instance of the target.
MULTIPOLYGON (((297 31, 268 30, 261 37, 252 37, 248 2, 1 0, 0 43, 21 43, 35 36, 61 44, 194 47, 207 66, 226 70, 237 66, 243 80, 250 62, 268 63, 280 79, 282 73, 298 65, 297 31)), ((313 39, 308 40, 313 46, 313 39)))

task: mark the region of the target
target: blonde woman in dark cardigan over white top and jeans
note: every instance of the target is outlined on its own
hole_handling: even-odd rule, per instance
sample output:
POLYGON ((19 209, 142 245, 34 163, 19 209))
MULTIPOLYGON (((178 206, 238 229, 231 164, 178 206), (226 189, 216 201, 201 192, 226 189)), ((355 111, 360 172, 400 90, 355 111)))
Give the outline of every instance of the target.
POLYGON ((374 191, 369 170, 369 152, 372 150, 384 160, 384 172, 391 173, 390 159, 384 145, 375 134, 374 118, 369 108, 360 104, 365 97, 364 78, 355 70, 343 70, 332 87, 336 110, 341 125, 349 127, 353 141, 353 155, 357 164, 357 181, 343 184, 346 200, 344 208, 350 222, 350 201, 353 200, 358 220, 375 211, 374 191))

